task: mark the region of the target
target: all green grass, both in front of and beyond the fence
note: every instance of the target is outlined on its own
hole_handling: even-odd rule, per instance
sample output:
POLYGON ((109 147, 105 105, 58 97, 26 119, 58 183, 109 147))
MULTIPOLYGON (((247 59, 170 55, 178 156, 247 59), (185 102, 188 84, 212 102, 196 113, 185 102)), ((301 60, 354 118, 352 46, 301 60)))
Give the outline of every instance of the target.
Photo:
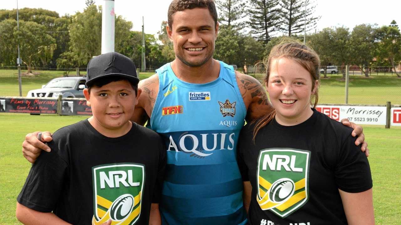
MULTIPOLYGON (((25 71, 23 71, 25 72, 25 71)), ((84 73, 83 73, 84 74, 84 73)), ((71 75, 71 73, 70 73, 71 75)), ((152 73, 141 73, 146 78, 152 73)), ((22 77, 22 96, 28 90, 41 88, 50 79, 63 76, 63 71, 40 71, 39 74, 22 77)), ((340 76, 322 79, 321 103, 344 103, 344 81, 340 76)), ((262 80, 262 75, 257 76, 262 80)), ((350 100, 352 104, 401 104, 399 92, 401 79, 395 76, 352 76, 350 79, 350 100)), ((16 70, 0 70, 0 96, 18 96, 18 75, 16 70)), ((15 219, 16 197, 24 184, 30 163, 21 153, 24 136, 32 131, 58 128, 75 123, 87 117, 80 116, 31 116, 26 114, 0 114, 0 224, 18 224, 15 219)), ((396 225, 401 220, 401 151, 399 140, 401 127, 385 129, 384 126, 364 125, 364 133, 369 143, 369 162, 374 184, 374 207, 377 224, 396 225)))

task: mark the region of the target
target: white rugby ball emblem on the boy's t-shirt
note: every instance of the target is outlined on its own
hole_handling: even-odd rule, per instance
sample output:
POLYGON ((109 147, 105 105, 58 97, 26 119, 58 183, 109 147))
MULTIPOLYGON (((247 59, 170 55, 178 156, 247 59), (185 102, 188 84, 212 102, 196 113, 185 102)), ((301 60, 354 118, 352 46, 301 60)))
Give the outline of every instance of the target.
POLYGON ((130 194, 124 194, 114 200, 110 207, 110 218, 113 221, 125 219, 134 208, 134 197, 130 194))

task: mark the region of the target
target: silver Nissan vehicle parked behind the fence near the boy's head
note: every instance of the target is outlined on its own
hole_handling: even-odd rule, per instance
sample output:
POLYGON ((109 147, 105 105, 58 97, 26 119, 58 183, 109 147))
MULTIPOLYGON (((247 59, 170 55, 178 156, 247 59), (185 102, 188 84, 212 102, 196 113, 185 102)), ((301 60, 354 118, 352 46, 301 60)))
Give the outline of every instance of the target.
POLYGON ((84 98, 85 82, 86 78, 81 76, 54 78, 47 84, 42 85, 41 89, 28 91, 26 96, 57 98, 62 95, 63 98, 84 98))

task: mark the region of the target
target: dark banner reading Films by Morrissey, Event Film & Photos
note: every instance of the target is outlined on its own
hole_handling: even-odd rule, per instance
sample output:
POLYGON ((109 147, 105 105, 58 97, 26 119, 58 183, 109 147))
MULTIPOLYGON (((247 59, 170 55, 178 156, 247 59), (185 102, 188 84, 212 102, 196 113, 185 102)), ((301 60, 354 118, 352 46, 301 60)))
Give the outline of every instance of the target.
POLYGON ((57 99, 0 98, 0 112, 57 114, 57 99))

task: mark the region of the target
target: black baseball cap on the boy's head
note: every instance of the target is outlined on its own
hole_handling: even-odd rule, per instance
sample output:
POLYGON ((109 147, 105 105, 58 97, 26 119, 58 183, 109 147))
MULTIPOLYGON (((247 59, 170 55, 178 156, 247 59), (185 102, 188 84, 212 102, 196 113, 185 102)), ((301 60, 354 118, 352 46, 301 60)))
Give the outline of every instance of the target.
POLYGON ((139 82, 134 62, 127 56, 117 52, 108 52, 93 57, 87 67, 86 86, 92 86, 93 82, 108 76, 121 76, 134 85, 139 82))

